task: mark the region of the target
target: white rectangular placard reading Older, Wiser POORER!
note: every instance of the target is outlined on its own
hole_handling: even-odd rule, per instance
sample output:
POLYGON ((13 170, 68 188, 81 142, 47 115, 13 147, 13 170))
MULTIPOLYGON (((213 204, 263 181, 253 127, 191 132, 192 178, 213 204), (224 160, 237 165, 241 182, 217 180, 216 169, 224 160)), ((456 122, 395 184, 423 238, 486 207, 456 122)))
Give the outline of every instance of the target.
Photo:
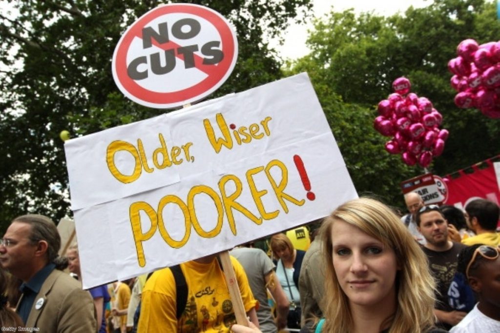
POLYGON ((65 151, 85 288, 228 250, 357 197, 304 73, 65 151))

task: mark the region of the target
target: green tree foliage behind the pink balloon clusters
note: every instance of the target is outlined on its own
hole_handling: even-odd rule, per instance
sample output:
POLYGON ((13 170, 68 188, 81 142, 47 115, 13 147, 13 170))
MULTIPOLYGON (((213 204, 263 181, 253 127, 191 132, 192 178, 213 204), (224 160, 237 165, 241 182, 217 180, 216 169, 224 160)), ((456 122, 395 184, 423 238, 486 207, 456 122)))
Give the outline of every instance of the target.
POLYGON ((425 8, 383 17, 353 10, 332 11, 316 19, 310 53, 289 64, 288 72, 307 71, 316 89, 347 168, 359 193, 374 193, 402 206, 399 183, 423 173, 383 149, 388 138, 372 126, 377 103, 405 76, 411 91, 429 98, 450 132, 444 153, 429 168, 445 175, 499 153, 498 120, 453 103, 447 62, 466 38, 497 40, 496 7, 484 0, 435 0, 425 8))

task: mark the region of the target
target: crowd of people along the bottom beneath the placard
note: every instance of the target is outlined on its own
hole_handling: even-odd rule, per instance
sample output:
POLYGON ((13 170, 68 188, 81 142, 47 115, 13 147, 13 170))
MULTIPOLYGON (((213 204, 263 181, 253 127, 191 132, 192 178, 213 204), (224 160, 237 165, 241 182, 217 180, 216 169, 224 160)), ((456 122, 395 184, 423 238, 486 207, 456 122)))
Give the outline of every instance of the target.
POLYGON ((217 254, 83 290, 78 247, 59 257, 55 224, 20 216, 0 239, 0 325, 47 333, 500 332, 498 205, 476 199, 462 212, 424 205, 417 193, 404 199, 402 217, 372 198, 345 202, 306 249, 283 233, 269 238, 268 253, 232 249, 240 306, 217 254), (236 324, 239 308, 248 323, 236 324))

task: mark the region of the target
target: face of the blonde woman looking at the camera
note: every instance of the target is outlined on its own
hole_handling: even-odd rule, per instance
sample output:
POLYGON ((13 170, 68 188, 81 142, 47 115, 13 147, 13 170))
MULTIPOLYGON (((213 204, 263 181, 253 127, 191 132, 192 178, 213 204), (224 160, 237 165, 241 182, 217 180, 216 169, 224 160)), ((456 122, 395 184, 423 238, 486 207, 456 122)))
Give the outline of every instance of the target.
POLYGON ((394 251, 340 220, 333 222, 330 237, 333 268, 349 304, 395 304, 394 280, 399 268, 394 251))

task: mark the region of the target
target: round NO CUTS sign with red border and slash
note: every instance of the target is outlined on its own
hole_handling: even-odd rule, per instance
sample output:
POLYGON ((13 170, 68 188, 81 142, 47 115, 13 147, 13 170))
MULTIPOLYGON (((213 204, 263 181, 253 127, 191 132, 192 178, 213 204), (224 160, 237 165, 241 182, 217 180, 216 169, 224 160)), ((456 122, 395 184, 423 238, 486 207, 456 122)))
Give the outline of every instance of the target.
POLYGON ((237 53, 235 33, 218 12, 186 3, 161 5, 121 36, 113 53, 113 78, 136 103, 177 107, 222 85, 237 53))

